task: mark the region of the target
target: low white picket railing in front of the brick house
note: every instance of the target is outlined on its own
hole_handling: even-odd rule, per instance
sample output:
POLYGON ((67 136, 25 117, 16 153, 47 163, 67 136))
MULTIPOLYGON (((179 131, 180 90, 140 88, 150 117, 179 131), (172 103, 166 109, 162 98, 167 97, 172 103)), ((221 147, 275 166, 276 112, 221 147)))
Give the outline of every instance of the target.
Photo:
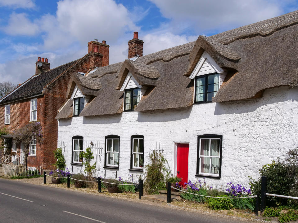
POLYGON ((42 175, 42 167, 25 167, 23 165, 13 166, 6 164, 2 166, 3 176, 7 177, 30 177, 42 175))

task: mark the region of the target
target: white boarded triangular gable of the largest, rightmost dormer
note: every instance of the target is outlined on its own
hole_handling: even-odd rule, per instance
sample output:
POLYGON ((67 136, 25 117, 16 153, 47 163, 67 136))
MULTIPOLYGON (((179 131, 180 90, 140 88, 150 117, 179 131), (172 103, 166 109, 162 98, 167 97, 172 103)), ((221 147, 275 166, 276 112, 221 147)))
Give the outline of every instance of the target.
POLYGON ((201 58, 199 59, 196 67, 193 69, 190 79, 195 78, 196 76, 210 74, 210 73, 223 73, 224 70, 217 65, 217 63, 212 59, 212 57, 204 51, 201 58))

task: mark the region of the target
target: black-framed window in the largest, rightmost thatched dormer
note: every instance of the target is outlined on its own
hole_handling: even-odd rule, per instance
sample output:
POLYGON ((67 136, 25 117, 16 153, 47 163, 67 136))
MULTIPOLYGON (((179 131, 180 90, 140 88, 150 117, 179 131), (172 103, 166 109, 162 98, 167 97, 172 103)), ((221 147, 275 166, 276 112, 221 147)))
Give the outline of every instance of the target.
POLYGON ((197 76, 195 84, 195 102, 212 102, 212 98, 219 90, 219 74, 197 76))

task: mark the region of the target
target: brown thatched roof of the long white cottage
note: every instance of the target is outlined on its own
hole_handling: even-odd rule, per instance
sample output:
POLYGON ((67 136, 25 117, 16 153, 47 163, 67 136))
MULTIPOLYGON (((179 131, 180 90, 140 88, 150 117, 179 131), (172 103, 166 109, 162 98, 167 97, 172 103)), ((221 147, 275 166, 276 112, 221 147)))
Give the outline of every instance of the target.
MULTIPOLYGON (((117 114, 123 111, 123 91, 128 73, 140 85, 147 85, 135 111, 154 111, 190 107, 193 104, 193 68, 206 51, 227 72, 214 102, 260 97, 268 88, 298 86, 298 11, 233 29, 211 37, 199 36, 195 42, 172 47, 136 61, 98 68, 90 74, 102 87, 80 116, 117 114)), ((93 90, 95 92, 95 90, 93 90)), ((68 102, 61 110, 72 114, 68 102)))

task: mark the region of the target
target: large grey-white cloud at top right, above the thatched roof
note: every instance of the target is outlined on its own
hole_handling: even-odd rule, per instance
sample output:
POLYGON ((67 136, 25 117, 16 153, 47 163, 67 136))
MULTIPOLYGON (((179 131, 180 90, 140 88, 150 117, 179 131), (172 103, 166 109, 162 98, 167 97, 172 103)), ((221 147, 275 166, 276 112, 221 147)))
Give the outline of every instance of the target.
POLYGON ((208 30, 224 31, 282 14, 277 2, 266 0, 149 0, 162 15, 171 19, 167 28, 173 33, 187 28, 196 33, 208 30))

